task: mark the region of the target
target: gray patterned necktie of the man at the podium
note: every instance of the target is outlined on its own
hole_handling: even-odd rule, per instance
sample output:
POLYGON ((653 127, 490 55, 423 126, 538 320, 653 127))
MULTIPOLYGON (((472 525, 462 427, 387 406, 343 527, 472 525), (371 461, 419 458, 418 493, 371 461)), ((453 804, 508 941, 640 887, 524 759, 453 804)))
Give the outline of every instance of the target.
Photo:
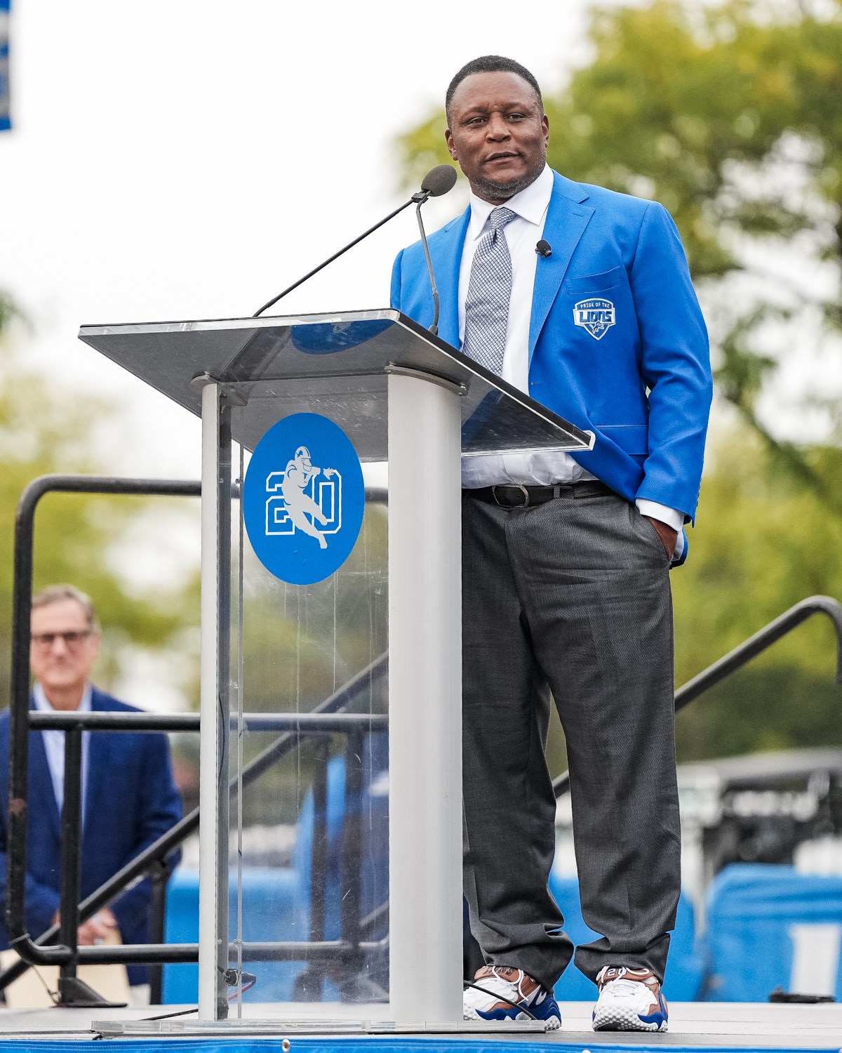
POLYGON ((462 354, 498 376, 503 372, 512 298, 512 257, 503 227, 516 217, 510 208, 492 211, 492 229, 477 245, 465 297, 462 354))

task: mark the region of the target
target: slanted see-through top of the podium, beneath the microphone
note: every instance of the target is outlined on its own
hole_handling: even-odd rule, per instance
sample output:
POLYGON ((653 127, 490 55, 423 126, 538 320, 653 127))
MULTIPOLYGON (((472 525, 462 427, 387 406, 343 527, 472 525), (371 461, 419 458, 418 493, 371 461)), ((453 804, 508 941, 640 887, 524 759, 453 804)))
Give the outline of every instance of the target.
POLYGON ((310 412, 339 424, 362 460, 386 460, 387 376, 407 372, 459 389, 463 456, 594 442, 398 311, 83 325, 79 338, 197 415, 203 384, 222 384, 232 438, 248 450, 277 420, 310 412))

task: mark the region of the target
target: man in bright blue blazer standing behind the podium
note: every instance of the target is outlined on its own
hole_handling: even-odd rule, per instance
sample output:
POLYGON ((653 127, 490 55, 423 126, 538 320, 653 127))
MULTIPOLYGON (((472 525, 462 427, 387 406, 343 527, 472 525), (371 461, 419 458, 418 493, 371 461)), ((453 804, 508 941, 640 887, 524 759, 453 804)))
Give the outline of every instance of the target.
MULTIPOLYGON (((550 693, 567 743, 597 1030, 666 1030, 680 892, 668 570, 687 554, 711 398, 681 241, 657 202, 546 164, 533 75, 484 56, 454 77, 446 142, 466 212, 429 238, 444 340, 592 431, 584 453, 463 458, 464 885, 486 966, 467 1018, 560 1026, 574 949, 547 890, 550 693)), ((420 244, 393 306, 423 325, 420 244)))

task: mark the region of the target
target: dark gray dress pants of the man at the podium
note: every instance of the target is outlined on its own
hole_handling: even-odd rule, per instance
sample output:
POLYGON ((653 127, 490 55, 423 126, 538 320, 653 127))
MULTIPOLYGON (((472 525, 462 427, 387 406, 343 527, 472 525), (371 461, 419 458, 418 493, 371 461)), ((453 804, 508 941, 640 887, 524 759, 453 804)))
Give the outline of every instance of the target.
POLYGON ((550 693, 567 741, 582 913, 576 950, 663 979, 680 891, 667 556, 623 498, 462 499, 464 882, 488 963, 552 989, 573 956, 547 881, 550 693))

